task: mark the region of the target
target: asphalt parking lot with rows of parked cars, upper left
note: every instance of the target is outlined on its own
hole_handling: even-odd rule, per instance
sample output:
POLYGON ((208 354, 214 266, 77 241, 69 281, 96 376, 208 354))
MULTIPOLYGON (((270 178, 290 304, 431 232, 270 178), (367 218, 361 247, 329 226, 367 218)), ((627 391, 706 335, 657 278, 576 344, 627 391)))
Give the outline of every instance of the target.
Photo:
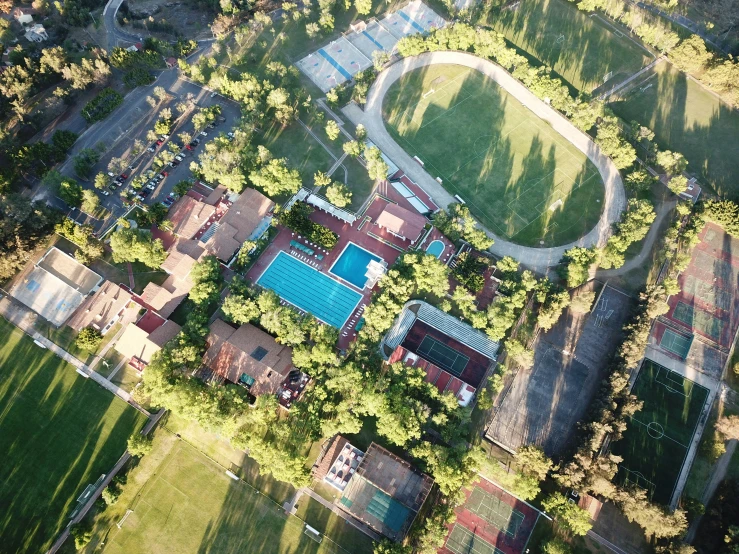
MULTIPOLYGON (((163 84, 162 82, 157 82, 153 86, 162 86, 163 84)), ((121 193, 130 186, 130 183, 135 178, 150 169, 154 157, 161 151, 168 149, 171 143, 179 143, 178 134, 186 132, 194 136, 194 127, 191 119, 199 108, 207 108, 214 104, 219 104, 221 106, 220 117, 223 121, 219 121, 218 126, 214 129, 206 128, 205 131, 208 136, 198 136, 200 144, 193 148, 193 150, 183 149, 186 154, 184 160, 175 167, 165 168, 168 175, 156 184, 154 190, 143 200, 144 204, 150 205, 155 202, 164 201, 172 193, 172 189, 178 182, 192 179, 190 163, 193 160, 197 160, 197 156, 202 152, 205 143, 220 133, 226 134, 231 131, 240 117, 240 108, 237 103, 220 95, 211 97, 212 93, 210 90, 204 89, 189 81, 177 79, 168 88, 165 88, 165 90, 169 95, 168 98, 158 101, 155 108, 152 108, 146 101, 147 96, 151 95, 153 87, 150 88, 149 95, 136 95, 134 98, 131 98, 131 95, 127 96, 126 103, 130 101, 132 103, 131 105, 124 105, 124 109, 116 111, 111 116, 110 121, 103 121, 99 128, 90 129, 91 132, 89 135, 83 137, 85 140, 81 140, 79 141, 80 144, 75 145, 75 153, 82 148, 92 148, 100 143, 108 147, 108 150, 101 156, 100 161, 90 172, 90 178, 87 181, 80 180, 80 184, 84 188, 97 190, 93 184, 94 177, 100 172, 109 174, 108 164, 113 158, 126 160, 128 167, 131 168, 124 170, 123 174, 127 177, 121 186, 105 188, 103 189, 104 192, 98 191, 101 197, 101 204, 111 212, 113 218, 120 217, 126 210, 124 202, 121 199, 121 193), (181 115, 176 109, 177 104, 188 98, 192 99, 193 107, 181 115), (152 143, 151 141, 147 141, 146 135, 150 129, 153 129, 154 124, 159 118, 159 114, 165 108, 169 108, 172 112, 173 127, 170 131, 170 137, 163 144, 155 145, 155 151, 150 152, 148 149, 152 146, 152 143), (144 145, 143 152, 133 155, 133 148, 136 141, 140 141, 144 145)), ((74 173, 71 158, 61 167, 61 171, 63 174, 79 180, 79 177, 74 173)), ((158 173, 159 171, 155 172, 155 174, 158 173)), ((114 173, 114 175, 116 174, 117 172, 114 173)), ((112 178, 111 181, 113 181, 112 178)), ((151 180, 147 181, 147 183, 149 182, 151 180)), ((90 221, 90 218, 88 218, 87 222, 102 225, 102 221, 90 221)))

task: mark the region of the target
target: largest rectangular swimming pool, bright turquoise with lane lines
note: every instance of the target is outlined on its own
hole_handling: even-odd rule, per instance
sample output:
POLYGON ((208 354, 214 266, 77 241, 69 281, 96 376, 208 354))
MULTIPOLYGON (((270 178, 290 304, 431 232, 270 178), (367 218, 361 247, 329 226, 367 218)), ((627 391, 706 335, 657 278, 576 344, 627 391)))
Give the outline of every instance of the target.
POLYGON ((257 284, 272 289, 283 300, 338 329, 362 299, 358 292, 285 252, 277 254, 257 284))

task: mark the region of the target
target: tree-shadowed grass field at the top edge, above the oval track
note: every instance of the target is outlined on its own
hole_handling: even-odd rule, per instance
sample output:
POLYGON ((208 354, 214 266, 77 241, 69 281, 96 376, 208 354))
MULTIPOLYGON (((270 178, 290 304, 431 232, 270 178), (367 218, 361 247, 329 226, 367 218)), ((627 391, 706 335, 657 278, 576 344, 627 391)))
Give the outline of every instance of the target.
POLYGON ((588 17, 566 0, 526 0, 515 9, 492 5, 479 23, 493 27, 583 92, 603 85, 609 72, 610 81, 623 81, 653 59, 600 16, 588 17))

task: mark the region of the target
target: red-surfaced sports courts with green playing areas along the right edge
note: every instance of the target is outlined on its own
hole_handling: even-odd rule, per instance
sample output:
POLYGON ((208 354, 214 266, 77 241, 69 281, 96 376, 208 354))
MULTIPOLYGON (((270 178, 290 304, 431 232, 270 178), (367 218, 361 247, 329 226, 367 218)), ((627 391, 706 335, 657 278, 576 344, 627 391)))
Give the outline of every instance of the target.
POLYGON ((739 325, 739 239, 708 223, 699 235, 690 265, 680 274, 681 292, 668 300, 666 318, 705 340, 729 349, 739 325), (692 323, 675 317, 679 304, 693 309, 692 323), (695 319, 716 318, 715 332, 697 326, 695 319))

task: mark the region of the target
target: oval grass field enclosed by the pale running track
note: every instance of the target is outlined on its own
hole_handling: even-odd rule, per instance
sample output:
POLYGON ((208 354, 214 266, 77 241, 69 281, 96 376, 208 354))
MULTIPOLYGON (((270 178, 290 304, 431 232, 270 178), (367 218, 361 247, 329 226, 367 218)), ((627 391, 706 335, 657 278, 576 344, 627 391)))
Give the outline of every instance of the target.
POLYGON ((398 144, 499 236, 558 246, 598 222, 605 189, 595 166, 474 69, 407 73, 387 92, 383 117, 398 144))

